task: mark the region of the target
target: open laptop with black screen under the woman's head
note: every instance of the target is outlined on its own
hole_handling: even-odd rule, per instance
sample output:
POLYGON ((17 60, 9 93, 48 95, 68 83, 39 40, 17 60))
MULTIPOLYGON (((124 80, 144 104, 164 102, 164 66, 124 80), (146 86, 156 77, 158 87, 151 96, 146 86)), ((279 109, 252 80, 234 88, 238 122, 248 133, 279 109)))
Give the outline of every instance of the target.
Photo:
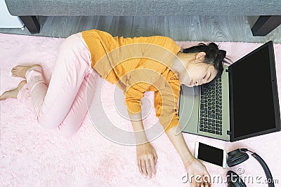
POLYGON ((181 85, 182 132, 237 141, 280 131, 273 41, 223 68, 207 84, 181 85))

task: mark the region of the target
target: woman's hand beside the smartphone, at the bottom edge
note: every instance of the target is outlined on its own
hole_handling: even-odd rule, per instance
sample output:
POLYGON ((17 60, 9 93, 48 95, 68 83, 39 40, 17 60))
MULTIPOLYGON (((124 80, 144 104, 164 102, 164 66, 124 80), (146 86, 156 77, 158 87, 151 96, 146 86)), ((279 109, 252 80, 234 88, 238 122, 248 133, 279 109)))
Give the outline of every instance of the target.
POLYGON ((207 187, 211 186, 211 176, 207 172, 206 167, 197 158, 185 165, 186 172, 188 173, 188 180, 191 187, 207 187), (190 180, 190 178, 192 179, 190 180))

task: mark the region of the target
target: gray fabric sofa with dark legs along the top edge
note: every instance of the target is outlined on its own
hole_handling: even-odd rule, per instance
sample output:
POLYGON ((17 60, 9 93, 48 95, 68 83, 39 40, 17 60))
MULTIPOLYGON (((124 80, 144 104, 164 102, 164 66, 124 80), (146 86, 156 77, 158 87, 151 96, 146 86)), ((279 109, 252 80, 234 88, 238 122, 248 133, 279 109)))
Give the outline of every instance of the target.
POLYGON ((281 24, 281 0, 5 0, 32 34, 39 33, 36 16, 254 16, 254 36, 265 36, 281 24))

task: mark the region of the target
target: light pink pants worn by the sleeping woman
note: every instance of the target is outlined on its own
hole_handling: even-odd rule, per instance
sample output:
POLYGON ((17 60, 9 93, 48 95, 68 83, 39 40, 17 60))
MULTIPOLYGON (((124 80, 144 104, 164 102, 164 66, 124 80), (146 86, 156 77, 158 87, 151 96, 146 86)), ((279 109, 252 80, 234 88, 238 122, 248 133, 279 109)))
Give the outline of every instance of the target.
POLYGON ((93 99, 98 77, 81 33, 61 44, 48 87, 41 67, 28 69, 25 77, 39 125, 56 128, 64 137, 77 132, 88 111, 86 97, 93 99))

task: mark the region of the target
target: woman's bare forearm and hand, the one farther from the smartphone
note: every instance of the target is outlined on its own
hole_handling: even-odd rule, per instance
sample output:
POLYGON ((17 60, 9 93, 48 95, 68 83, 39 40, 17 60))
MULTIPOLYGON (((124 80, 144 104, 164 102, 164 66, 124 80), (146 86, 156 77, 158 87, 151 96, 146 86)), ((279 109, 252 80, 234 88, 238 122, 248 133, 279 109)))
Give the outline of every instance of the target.
POLYGON ((141 174, 152 177, 156 174, 157 153, 155 148, 148 141, 143 127, 141 113, 131 113, 128 110, 133 130, 136 134, 136 158, 138 160, 138 169, 141 174))

